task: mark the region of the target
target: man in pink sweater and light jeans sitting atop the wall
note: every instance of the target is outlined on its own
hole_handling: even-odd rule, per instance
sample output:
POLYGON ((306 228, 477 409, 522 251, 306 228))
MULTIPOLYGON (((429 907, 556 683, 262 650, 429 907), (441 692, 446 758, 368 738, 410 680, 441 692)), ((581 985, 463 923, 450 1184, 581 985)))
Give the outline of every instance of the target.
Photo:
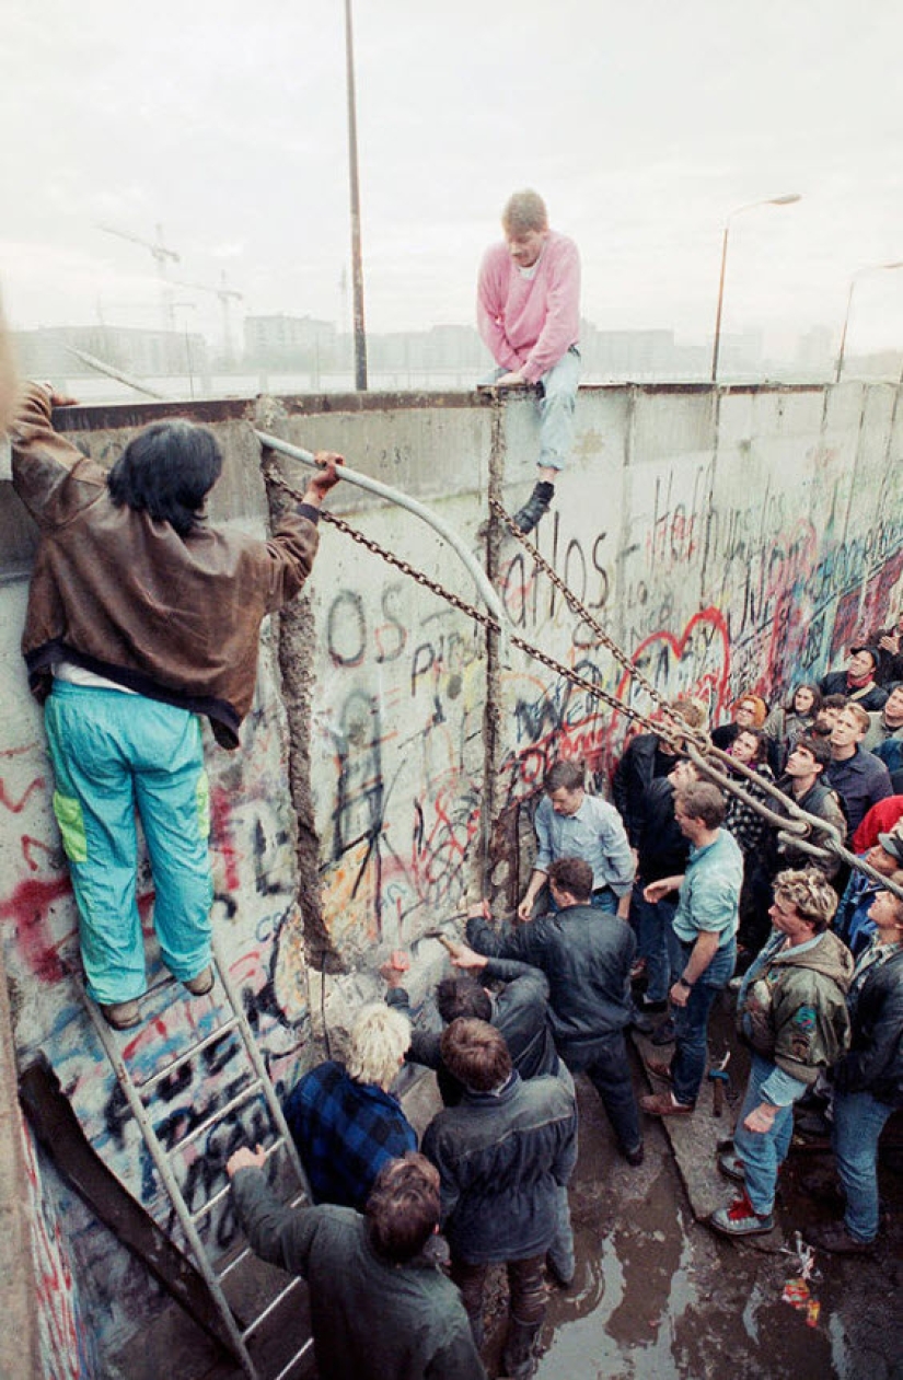
POLYGON ((538 480, 515 513, 532 531, 555 493, 555 476, 573 443, 580 381, 580 255, 548 228, 537 192, 515 192, 501 213, 504 243, 486 251, 479 270, 479 333, 498 368, 496 388, 541 386, 538 480))

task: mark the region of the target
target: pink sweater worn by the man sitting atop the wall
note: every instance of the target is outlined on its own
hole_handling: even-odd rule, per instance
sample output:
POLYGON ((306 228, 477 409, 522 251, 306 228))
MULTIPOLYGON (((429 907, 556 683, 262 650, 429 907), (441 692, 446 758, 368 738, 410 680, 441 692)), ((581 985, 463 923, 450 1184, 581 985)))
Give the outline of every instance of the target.
POLYGON ((507 244, 493 244, 479 269, 476 324, 496 363, 536 384, 580 334, 574 241, 550 230, 533 277, 523 276, 507 244))

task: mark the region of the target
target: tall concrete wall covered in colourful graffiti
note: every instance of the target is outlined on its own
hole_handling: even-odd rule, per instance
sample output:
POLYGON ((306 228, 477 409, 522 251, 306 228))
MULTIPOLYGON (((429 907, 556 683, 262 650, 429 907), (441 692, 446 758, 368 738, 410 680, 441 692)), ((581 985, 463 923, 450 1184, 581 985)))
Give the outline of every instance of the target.
MULTIPOLYGON (((65 425, 104 460, 164 410, 80 410, 65 425)), ((253 404, 193 415, 226 453, 213 516, 262 534, 283 500, 261 480, 253 404)), ((514 511, 533 480, 530 399, 283 399, 257 415, 309 448, 344 450, 356 469, 435 506, 480 552, 489 493, 514 511)), ((896 602, 903 417, 893 389, 587 389, 577 421, 577 454, 537 544, 664 693, 703 694, 724 718, 743 690, 772 697, 822 673, 853 629, 896 602)), ((297 466, 283 472, 304 487, 297 466)), ((348 486, 330 506, 479 602, 457 558, 410 515, 348 486)), ((0 922, 15 1047, 21 1064, 46 1050, 99 1152, 168 1221, 70 976, 76 916, 40 712, 18 657, 33 533, 8 484, 0 531, 0 922)), ((490 566, 522 636, 634 700, 610 651, 514 541, 493 535, 490 566)), ((214 925, 278 1083, 322 1056, 323 1021, 336 1036, 378 994, 376 969, 391 948, 413 949, 421 996, 442 965, 427 931, 463 908, 468 889, 514 901, 515 846, 545 765, 581 753, 603 781, 624 726, 526 654, 501 664, 463 613, 323 524, 305 598, 264 638, 242 752, 208 740, 214 925)), ((146 868, 141 894, 153 967, 146 868)), ((206 1005, 177 1003, 144 1027, 128 1042, 138 1071, 192 1028, 204 1032, 206 1005)), ((178 1086, 162 1085, 153 1115, 164 1138, 175 1143, 222 1104, 237 1074, 226 1046, 178 1086)), ((246 1133, 257 1133, 253 1112, 182 1166, 199 1202, 246 1133)), ((228 1216, 210 1231, 226 1245, 228 1216)), ((64 1235, 108 1357, 157 1307, 156 1293, 77 1205, 66 1205, 64 1235)))

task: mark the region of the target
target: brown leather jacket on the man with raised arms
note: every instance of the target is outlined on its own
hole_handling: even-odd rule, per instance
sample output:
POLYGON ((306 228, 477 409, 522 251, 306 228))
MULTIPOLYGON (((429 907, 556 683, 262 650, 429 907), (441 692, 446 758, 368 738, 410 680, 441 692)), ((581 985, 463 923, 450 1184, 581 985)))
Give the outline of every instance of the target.
POLYGON ((106 471, 54 432, 46 389, 28 385, 10 432, 12 482, 40 527, 22 635, 36 697, 50 694, 55 661, 73 661, 207 715, 236 748, 261 621, 311 573, 318 511, 301 504, 271 541, 206 522, 179 537, 110 501, 106 471))

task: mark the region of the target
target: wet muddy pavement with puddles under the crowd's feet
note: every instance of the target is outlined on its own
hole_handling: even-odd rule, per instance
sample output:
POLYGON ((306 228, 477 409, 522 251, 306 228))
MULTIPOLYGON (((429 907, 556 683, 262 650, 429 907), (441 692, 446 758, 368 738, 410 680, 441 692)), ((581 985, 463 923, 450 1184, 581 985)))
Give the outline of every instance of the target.
MULTIPOLYGON (((715 1053, 728 1042, 729 1027, 729 1014, 722 1012, 712 1031, 715 1053)), ((648 1081, 639 1057, 632 1057, 642 1093, 648 1081)), ((741 1056, 735 1057, 741 1086, 741 1056)), ((795 1256, 783 1250, 793 1246, 797 1228, 838 1214, 835 1205, 809 1196, 799 1184, 813 1172, 830 1181, 830 1155, 795 1147, 781 1176, 777 1230, 740 1243, 725 1241, 697 1221, 693 1202, 708 1210, 710 1202, 732 1195, 703 1143, 714 1150, 715 1138, 729 1133, 739 1103, 714 1123, 706 1094, 700 1097, 696 1141, 690 1137, 688 1144, 686 1123, 677 1132, 685 1138, 679 1172, 660 1122, 645 1118, 646 1159, 631 1169, 617 1154, 599 1098, 583 1078, 577 1094, 580 1159, 570 1191, 577 1275, 569 1290, 551 1289, 538 1380, 903 1380, 903 1163, 897 1161, 896 1169, 891 1163, 899 1152, 885 1155, 882 1165, 882 1194, 893 1216, 875 1256, 817 1259, 822 1278, 813 1292, 820 1317, 809 1326, 804 1312, 781 1301, 784 1283, 798 1272, 795 1256)), ((431 1098, 429 1082, 423 1081, 409 1108, 416 1122, 428 1116, 431 1098)), ((668 1132, 672 1127, 668 1123, 668 1132)), ((897 1141, 902 1129, 899 1116, 889 1123, 897 1141)), ((487 1312, 489 1369, 496 1376, 505 1325, 501 1271, 490 1275, 487 1312)), ((282 1330, 294 1332, 298 1323, 295 1318, 286 1329, 283 1318, 282 1330)), ((240 1374, 217 1361, 178 1310, 170 1312, 168 1329, 162 1343, 146 1336, 141 1348, 130 1348, 112 1376, 149 1380, 168 1373, 173 1357, 178 1357, 179 1380, 240 1374), (159 1352, 167 1359, 160 1369, 159 1352)), ((313 1366, 297 1374, 308 1380, 313 1366)))

